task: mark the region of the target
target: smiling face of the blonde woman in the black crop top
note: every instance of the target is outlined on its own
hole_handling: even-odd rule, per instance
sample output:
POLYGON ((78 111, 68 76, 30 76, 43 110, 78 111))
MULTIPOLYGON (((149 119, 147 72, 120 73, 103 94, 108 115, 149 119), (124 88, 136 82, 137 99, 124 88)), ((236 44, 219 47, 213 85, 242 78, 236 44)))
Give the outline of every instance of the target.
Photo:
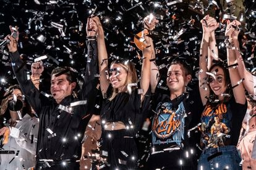
POLYGON ((125 91, 127 85, 128 72, 126 68, 117 63, 113 63, 109 71, 109 81, 114 89, 118 89, 119 92, 125 91))

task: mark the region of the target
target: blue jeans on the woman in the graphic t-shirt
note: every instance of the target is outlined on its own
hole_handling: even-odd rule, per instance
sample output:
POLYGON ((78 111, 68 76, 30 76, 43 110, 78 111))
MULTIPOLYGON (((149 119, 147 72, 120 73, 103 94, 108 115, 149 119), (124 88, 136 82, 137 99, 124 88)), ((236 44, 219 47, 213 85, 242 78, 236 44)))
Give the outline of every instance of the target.
POLYGON ((239 166, 241 155, 235 146, 224 146, 218 148, 207 148, 203 150, 197 170, 210 169, 242 169, 239 166))

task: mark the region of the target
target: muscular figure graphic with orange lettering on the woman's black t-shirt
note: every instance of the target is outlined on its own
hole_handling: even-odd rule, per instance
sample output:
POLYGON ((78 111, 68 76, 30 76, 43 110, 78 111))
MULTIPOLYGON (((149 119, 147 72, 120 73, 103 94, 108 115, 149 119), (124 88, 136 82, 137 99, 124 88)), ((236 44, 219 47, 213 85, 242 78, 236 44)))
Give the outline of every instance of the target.
POLYGON ((205 107, 202 113, 202 133, 200 145, 202 148, 216 148, 226 145, 230 138, 231 115, 227 114, 226 104, 220 103, 215 108, 210 105, 205 107))

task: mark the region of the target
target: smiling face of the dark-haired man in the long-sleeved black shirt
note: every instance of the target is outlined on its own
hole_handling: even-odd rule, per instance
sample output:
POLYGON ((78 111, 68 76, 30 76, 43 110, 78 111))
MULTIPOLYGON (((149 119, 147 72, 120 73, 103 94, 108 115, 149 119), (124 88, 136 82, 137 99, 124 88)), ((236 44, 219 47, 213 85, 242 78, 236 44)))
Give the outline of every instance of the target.
POLYGON ((56 74, 54 74, 51 76, 51 94, 57 103, 61 103, 62 99, 71 95, 75 85, 75 82, 67 81, 67 75, 56 77, 56 74))

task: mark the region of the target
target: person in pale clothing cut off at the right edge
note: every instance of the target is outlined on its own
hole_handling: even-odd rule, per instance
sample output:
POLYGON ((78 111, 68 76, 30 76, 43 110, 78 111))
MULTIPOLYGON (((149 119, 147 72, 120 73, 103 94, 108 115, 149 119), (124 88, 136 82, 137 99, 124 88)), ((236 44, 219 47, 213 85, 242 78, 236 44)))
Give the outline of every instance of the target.
POLYGON ((237 148, 242 156, 242 169, 256 169, 256 160, 252 158, 256 136, 256 101, 247 95, 247 111, 242 121, 242 129, 237 148))

